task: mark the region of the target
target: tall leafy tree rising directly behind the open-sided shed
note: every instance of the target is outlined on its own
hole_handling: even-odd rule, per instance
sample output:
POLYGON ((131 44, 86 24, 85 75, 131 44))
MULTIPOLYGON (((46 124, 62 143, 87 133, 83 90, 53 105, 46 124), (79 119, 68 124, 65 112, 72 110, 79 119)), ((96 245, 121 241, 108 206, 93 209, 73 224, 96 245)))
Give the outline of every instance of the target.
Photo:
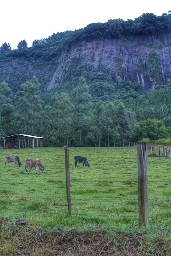
POLYGON ((40 100, 40 83, 36 76, 26 83, 21 85, 23 91, 16 93, 17 97, 17 108, 20 113, 21 122, 23 122, 23 131, 32 133, 34 135, 35 130, 38 132, 39 126, 42 125, 42 104, 40 100))

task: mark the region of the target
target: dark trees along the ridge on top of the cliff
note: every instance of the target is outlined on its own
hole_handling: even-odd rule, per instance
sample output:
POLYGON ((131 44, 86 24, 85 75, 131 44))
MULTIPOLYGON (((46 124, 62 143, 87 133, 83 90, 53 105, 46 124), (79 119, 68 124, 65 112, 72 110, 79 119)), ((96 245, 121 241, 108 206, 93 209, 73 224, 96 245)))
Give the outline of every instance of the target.
POLYGON ((104 38, 120 38, 132 40, 135 36, 167 34, 171 32, 171 11, 156 16, 153 13, 143 13, 134 20, 114 19, 105 23, 93 23, 75 31, 53 33, 49 38, 34 40, 32 47, 28 49, 27 42, 18 43, 18 50, 11 51, 9 43, 0 47, 0 54, 9 53, 11 56, 25 54, 35 58, 51 58, 58 55, 62 49, 68 49, 73 43, 81 41, 101 40, 104 38))

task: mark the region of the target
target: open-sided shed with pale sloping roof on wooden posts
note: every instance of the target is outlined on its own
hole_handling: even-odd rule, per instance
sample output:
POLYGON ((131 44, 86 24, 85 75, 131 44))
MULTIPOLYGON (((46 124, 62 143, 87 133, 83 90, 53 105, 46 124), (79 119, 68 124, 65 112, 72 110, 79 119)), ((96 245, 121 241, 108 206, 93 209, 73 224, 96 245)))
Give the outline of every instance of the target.
POLYGON ((38 137, 38 136, 27 135, 27 134, 15 134, 15 135, 2 137, 1 139, 4 139, 4 148, 20 148, 20 147, 26 148, 26 147, 29 147, 29 139, 32 140, 33 148, 34 148, 35 139, 37 142, 37 147, 39 146, 39 141, 40 141, 40 148, 41 148, 43 138, 44 137, 38 137), (12 142, 11 142, 11 140, 12 140, 12 142), (9 142, 9 143, 7 143, 7 142, 9 142), (16 144, 18 144, 18 146, 16 146, 16 144))

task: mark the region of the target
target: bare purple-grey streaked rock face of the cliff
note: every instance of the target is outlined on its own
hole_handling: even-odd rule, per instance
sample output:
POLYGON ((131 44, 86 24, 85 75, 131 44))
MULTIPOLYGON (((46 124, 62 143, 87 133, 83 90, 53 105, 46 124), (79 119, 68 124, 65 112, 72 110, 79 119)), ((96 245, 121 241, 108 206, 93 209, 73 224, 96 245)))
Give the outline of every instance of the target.
POLYGON ((61 84, 69 72, 73 58, 77 57, 78 65, 84 65, 93 72, 103 72, 113 78, 137 81, 148 92, 157 84, 171 81, 171 34, 137 37, 132 41, 121 39, 93 40, 73 45, 69 54, 65 52, 58 60, 56 72, 53 74, 47 89, 61 84), (155 58, 149 67, 148 56, 155 50, 160 65, 155 67, 155 58), (153 69, 151 72, 149 69, 153 69), (156 74, 155 74, 156 72, 156 74))

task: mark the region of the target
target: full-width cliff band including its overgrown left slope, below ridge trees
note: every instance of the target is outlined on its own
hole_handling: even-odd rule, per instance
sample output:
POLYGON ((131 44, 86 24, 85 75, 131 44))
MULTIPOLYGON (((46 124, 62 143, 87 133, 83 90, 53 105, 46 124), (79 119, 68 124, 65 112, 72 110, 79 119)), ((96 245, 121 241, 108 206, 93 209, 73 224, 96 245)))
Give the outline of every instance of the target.
POLYGON ((6 81, 16 92, 22 83, 37 76, 41 90, 51 89, 84 76, 88 70, 137 81, 148 92, 155 85, 171 82, 171 34, 82 42, 63 51, 59 58, 54 54, 49 59, 41 63, 31 55, 4 57, 0 59, 0 83, 6 81))

